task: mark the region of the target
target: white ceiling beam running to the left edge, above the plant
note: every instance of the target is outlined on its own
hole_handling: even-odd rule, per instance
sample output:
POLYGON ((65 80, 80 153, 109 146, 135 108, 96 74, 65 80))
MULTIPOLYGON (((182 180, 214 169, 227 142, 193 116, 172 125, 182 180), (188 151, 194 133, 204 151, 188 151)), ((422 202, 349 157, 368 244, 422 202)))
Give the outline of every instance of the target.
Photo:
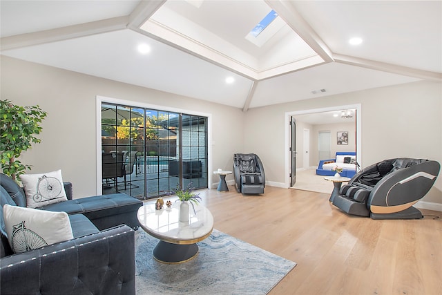
POLYGON ((122 30, 127 27, 128 16, 113 17, 101 21, 91 21, 89 23, 80 23, 63 28, 52 30, 43 30, 39 32, 30 32, 27 34, 3 37, 0 39, 1 50, 15 49, 26 46, 45 44, 54 41, 85 37, 103 32, 112 32, 122 30))

